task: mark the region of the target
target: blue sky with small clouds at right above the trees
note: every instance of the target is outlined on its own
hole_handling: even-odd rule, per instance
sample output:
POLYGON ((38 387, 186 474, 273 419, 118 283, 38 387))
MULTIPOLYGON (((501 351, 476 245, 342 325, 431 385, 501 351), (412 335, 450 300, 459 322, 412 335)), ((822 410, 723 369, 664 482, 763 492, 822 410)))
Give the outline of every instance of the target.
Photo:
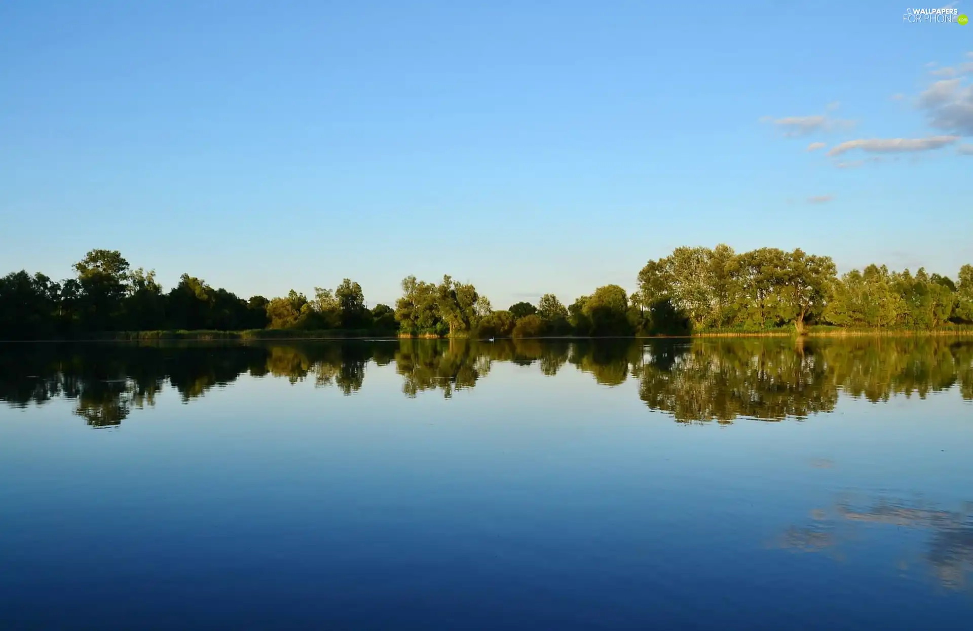
POLYGON ((7 0, 0 274, 107 248, 166 289, 448 273, 503 308, 726 243, 955 277, 973 24, 907 10, 7 0))

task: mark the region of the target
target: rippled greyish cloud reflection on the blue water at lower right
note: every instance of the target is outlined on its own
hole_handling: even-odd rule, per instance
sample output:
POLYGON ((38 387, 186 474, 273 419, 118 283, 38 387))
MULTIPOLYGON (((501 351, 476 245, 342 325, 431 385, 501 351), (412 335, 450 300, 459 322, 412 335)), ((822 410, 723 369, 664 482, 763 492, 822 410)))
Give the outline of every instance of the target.
MULTIPOLYGON (((775 547, 841 560, 853 554, 848 548, 867 538, 865 529, 882 526, 926 533, 919 566, 948 589, 973 592, 968 579, 973 573, 973 503, 951 510, 918 500, 841 498, 829 508, 811 510, 809 523, 789 527, 775 547)), ((903 555, 899 569, 909 570, 914 559, 903 555)))

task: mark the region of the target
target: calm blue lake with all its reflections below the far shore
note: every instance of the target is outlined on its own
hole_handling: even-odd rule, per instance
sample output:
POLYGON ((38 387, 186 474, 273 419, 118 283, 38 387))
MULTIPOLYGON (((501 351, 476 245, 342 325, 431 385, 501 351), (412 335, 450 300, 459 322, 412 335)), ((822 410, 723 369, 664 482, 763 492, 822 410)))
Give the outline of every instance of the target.
POLYGON ((973 626, 973 340, 0 345, 0 628, 973 626))

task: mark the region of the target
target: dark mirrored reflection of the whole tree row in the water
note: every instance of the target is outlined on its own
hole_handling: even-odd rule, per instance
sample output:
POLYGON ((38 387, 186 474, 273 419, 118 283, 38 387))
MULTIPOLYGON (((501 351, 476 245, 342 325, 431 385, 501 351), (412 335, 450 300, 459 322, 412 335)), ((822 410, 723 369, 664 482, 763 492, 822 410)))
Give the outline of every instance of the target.
POLYGON ((649 408, 682 423, 803 419, 834 410, 841 392, 883 402, 955 386, 973 400, 973 341, 888 337, 8 344, 0 346, 0 401, 69 399, 92 427, 111 427, 131 409, 153 405, 163 389, 189 403, 245 373, 312 380, 347 395, 362 387, 370 364, 394 363, 407 397, 439 391, 450 398, 475 387, 494 362, 545 375, 573 366, 605 386, 631 378, 649 408))

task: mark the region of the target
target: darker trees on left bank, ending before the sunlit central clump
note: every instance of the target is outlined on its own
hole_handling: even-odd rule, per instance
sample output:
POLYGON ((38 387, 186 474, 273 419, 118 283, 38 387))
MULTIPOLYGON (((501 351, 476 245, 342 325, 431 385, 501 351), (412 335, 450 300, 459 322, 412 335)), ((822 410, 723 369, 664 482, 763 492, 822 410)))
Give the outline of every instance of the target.
POLYGON ((314 296, 240 298, 183 274, 168 292, 155 271, 132 269, 115 250, 91 250, 75 276, 55 282, 26 271, 0 278, 0 339, 70 338, 121 331, 368 330, 394 333, 394 312, 368 308, 358 283, 344 279, 314 296))

